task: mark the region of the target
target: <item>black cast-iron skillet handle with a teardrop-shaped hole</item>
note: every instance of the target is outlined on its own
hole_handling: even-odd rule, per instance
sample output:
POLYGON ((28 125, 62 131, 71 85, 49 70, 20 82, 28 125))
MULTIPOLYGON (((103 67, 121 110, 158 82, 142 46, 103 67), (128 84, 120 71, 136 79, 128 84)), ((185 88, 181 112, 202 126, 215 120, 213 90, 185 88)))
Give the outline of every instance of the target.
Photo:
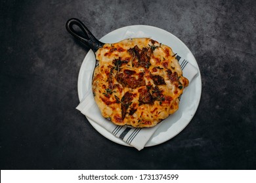
POLYGON ((101 48, 104 45, 104 43, 98 41, 98 39, 96 39, 89 31, 89 29, 87 29, 87 27, 85 27, 85 25, 77 18, 71 18, 68 20, 66 23, 66 29, 71 35, 79 39, 79 41, 83 42, 86 46, 89 46, 93 52, 96 52, 98 48, 101 48), (77 25, 81 31, 83 31, 84 35, 81 35, 81 33, 75 31, 73 25, 77 25))

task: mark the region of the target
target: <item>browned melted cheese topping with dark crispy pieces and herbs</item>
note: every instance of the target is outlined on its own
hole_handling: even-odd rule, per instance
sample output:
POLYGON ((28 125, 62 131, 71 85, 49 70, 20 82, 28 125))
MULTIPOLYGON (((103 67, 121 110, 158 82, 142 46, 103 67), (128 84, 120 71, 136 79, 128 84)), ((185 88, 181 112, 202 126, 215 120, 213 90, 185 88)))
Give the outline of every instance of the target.
POLYGON ((148 38, 104 44, 93 76, 102 116, 116 125, 152 127, 179 108, 188 80, 173 50, 148 38))

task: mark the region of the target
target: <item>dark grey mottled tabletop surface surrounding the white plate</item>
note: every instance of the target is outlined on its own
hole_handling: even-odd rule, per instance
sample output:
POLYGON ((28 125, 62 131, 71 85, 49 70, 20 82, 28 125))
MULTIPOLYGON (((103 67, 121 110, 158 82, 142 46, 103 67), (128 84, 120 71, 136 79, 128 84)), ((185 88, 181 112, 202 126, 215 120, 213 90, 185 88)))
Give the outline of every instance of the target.
POLYGON ((1 1, 1 169, 256 169, 255 2, 1 1), (97 38, 137 24, 179 37, 202 74, 190 124, 140 152, 100 135, 75 110, 88 49, 72 17, 97 38))

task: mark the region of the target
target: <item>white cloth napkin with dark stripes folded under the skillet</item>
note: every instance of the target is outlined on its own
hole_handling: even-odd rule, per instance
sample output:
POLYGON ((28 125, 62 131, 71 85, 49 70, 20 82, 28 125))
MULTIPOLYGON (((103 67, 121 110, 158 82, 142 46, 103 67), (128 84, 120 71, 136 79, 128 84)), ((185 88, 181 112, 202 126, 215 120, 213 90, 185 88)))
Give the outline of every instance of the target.
MULTIPOLYGON (((139 34, 142 37, 143 34, 140 32, 139 34)), ((128 37, 131 37, 131 32, 127 32, 127 35, 128 37)), ((177 55, 176 58, 179 60, 181 65, 183 76, 188 78, 188 80, 191 82, 194 76, 197 75, 198 69, 186 61, 186 59, 182 59, 179 55, 177 55)), ((89 73, 89 71, 87 72, 89 73)), ((91 70, 91 73, 93 73, 93 69, 91 70)), ((91 77, 91 75, 89 76, 91 77)), ((137 148, 137 150, 142 150, 144 148, 150 137, 152 137, 152 135, 161 125, 160 123, 150 128, 131 128, 113 124, 109 120, 102 117, 101 112, 95 103, 91 87, 89 87, 89 90, 86 91, 83 99, 76 108, 77 110, 80 110, 81 113, 87 118, 104 127, 104 129, 121 139, 123 142, 127 143, 127 145, 137 148)))

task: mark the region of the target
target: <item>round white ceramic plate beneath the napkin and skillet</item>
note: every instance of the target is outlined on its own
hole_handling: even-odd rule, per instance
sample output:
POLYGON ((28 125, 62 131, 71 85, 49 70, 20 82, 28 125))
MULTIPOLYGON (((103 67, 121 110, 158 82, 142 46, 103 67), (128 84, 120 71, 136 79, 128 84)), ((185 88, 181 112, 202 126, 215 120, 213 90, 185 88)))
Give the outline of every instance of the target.
MULTIPOLYGON (((167 46, 170 46, 173 49, 173 52, 178 53, 182 59, 186 59, 187 61, 189 61, 189 63, 191 63, 192 65, 194 65, 194 67, 198 69, 198 75, 195 76, 192 82, 190 82, 188 88, 186 88, 184 90, 184 93, 182 94, 179 110, 177 110, 175 114, 172 114, 171 116, 169 116, 169 118, 165 119, 164 122, 161 123, 156 133, 154 133, 154 135, 146 144, 146 146, 154 146, 175 137, 175 135, 180 133, 182 129, 184 129, 184 127, 189 124, 190 120, 192 120, 200 103, 200 97, 202 92, 202 79, 200 75, 200 69, 192 52, 190 52, 188 47, 180 39, 178 39, 171 33, 157 27, 152 27, 148 25, 131 25, 127 27, 122 27, 108 33, 107 35, 102 37, 100 41, 106 43, 119 42, 124 39, 127 31, 135 33, 142 31, 152 39, 161 42, 162 44, 166 44, 167 46)), ((92 71, 94 67, 95 54, 92 50, 90 50, 85 56, 85 59, 83 60, 79 71, 77 84, 79 101, 83 99, 85 92, 87 92, 89 85, 91 85, 91 78, 93 75, 92 71)), ((125 146, 129 145, 121 141, 121 139, 112 135, 112 133, 106 131, 106 129, 96 124, 96 122, 94 122, 93 120, 90 120, 89 118, 88 120, 100 134, 104 135, 104 137, 118 144, 123 144, 125 146)))

